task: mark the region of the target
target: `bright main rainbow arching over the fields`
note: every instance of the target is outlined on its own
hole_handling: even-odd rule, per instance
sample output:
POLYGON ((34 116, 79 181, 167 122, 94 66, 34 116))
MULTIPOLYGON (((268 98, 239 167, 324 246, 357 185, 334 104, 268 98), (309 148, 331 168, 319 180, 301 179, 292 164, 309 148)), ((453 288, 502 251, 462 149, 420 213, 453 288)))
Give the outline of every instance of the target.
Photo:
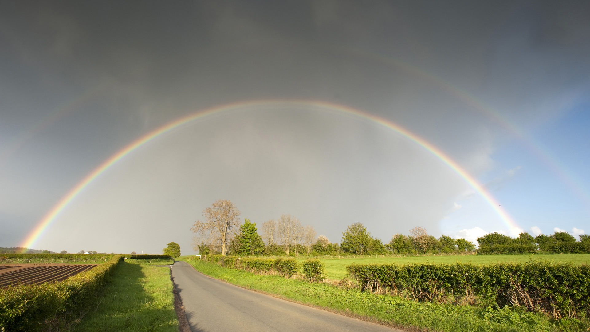
POLYGON ((76 185, 76 187, 72 188, 67 195, 65 195, 61 200, 51 209, 41 220, 40 223, 35 226, 35 229, 24 239, 21 247, 24 248, 31 248, 34 246, 35 242, 43 235, 45 230, 51 225, 52 222, 59 216, 59 214, 71 203, 71 201, 81 193, 90 183, 92 183, 96 178, 98 178, 103 172, 108 170, 118 161, 122 160, 124 157, 135 151, 135 149, 142 147, 148 142, 152 141, 153 139, 158 138, 160 135, 165 134, 166 132, 172 131, 173 129, 179 128, 183 125, 186 125, 190 122, 196 121, 198 119, 206 118, 207 116, 211 116, 215 113, 221 112, 228 112, 231 110, 238 110, 241 108, 247 107, 263 107, 263 106, 299 106, 299 107, 307 107, 307 108, 317 108, 319 110, 324 110, 327 112, 335 112, 337 114, 348 115, 352 118, 356 119, 364 119, 368 120, 372 123, 376 123, 380 126, 385 128, 391 129, 392 131, 397 132, 398 134, 408 138, 409 140, 415 142, 416 144, 420 145, 422 148, 426 149, 432 155, 437 157, 439 160, 447 164, 455 173, 460 175, 477 193, 487 201, 487 203, 491 206, 491 208, 496 211, 496 213, 500 216, 506 226, 512 230, 518 230, 520 227, 512 217, 500 206, 498 201, 491 196, 489 191, 483 187, 476 178, 474 178, 471 174, 469 174, 466 170, 464 170, 457 162, 452 160, 448 155, 442 152, 440 149, 432 145, 430 142, 426 141, 425 139, 419 137, 418 135, 408 131, 402 126, 389 121, 387 119, 381 118, 376 115, 371 115, 365 112, 362 112, 358 109, 353 109, 348 106, 337 105, 335 103, 328 103, 319 100, 250 100, 245 102, 235 102, 229 103, 221 106, 215 106, 213 108, 200 110, 195 113, 191 113, 189 115, 183 116, 182 118, 176 119, 175 121, 169 122, 166 125, 163 125, 152 132, 138 138, 136 141, 132 142, 131 144, 127 145, 127 147, 121 149, 116 154, 112 155, 108 160, 104 161, 99 167, 94 169, 89 175, 87 175, 80 183, 76 185))

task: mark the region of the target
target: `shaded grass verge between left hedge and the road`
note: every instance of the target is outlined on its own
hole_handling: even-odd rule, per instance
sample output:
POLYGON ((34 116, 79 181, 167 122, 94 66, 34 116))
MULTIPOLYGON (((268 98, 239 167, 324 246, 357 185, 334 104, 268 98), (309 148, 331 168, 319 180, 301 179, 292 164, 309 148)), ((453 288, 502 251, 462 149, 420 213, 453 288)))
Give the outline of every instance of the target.
POLYGON ((170 269, 127 261, 71 331, 178 332, 170 269))

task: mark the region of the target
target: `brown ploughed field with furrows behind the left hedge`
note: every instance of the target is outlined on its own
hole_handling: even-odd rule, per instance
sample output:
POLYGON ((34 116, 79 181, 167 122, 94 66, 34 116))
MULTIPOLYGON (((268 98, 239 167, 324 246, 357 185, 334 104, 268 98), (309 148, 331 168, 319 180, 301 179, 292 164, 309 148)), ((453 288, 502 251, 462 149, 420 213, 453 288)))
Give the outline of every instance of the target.
POLYGON ((96 264, 2 265, 0 266, 0 288, 18 284, 31 285, 62 281, 94 266, 96 264))

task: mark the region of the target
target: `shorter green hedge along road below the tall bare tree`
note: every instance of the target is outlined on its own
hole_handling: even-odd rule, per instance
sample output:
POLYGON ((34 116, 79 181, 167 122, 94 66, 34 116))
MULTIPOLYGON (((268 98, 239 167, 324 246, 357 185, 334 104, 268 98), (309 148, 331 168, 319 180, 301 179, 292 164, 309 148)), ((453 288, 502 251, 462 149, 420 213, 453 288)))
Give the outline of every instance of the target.
POLYGON ((286 278, 297 274, 299 263, 294 258, 254 258, 224 255, 202 255, 201 259, 211 263, 217 263, 225 268, 242 269, 246 271, 266 274, 282 275, 286 278))

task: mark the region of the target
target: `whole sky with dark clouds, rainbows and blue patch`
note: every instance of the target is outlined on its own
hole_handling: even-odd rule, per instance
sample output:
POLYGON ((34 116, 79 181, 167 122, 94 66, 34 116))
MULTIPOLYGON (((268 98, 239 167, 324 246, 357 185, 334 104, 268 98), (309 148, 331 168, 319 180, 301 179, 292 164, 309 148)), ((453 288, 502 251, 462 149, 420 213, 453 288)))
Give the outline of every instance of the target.
POLYGON ((338 243, 590 232, 589 11, 2 1, 0 246, 191 254, 220 198, 338 243))

